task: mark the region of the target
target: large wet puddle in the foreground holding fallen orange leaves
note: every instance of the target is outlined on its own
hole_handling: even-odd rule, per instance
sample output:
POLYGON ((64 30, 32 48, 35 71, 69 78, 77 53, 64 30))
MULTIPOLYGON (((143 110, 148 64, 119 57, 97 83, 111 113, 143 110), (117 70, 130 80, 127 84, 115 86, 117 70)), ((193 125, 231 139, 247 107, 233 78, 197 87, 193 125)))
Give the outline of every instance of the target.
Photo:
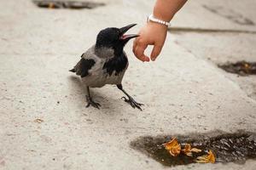
POLYGON ((212 150, 216 157, 216 163, 230 161, 244 163, 247 159, 256 158, 256 133, 223 133, 218 131, 205 134, 190 134, 188 136, 145 136, 132 141, 131 147, 142 151, 155 161, 159 161, 162 165, 169 167, 195 163, 195 158, 207 154, 208 150, 212 150), (176 137, 181 145, 189 143, 192 147, 201 149, 202 152, 193 153, 193 156, 171 156, 163 144, 173 137, 176 137))

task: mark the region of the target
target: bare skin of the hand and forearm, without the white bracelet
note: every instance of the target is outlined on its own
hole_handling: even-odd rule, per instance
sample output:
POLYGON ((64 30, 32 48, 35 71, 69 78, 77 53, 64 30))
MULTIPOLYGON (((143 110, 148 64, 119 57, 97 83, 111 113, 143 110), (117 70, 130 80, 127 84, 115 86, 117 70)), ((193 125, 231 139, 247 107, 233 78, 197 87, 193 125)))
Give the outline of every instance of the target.
MULTIPOLYGON (((170 22, 174 14, 176 14, 186 2, 187 0, 157 0, 154 4, 154 18, 170 22)), ((140 59, 143 62, 148 62, 150 59, 154 61, 165 44, 167 30, 168 27, 165 25, 148 21, 139 31, 138 34, 140 37, 137 37, 133 42, 132 51, 137 59, 140 59), (154 46, 150 54, 150 59, 149 56, 144 53, 148 45, 154 46)))

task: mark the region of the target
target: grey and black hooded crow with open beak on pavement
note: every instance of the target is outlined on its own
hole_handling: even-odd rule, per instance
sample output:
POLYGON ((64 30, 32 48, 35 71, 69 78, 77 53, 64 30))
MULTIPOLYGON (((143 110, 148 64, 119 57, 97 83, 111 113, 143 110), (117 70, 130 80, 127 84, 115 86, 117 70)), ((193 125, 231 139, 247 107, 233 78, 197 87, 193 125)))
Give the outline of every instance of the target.
POLYGON ((101 106, 91 98, 90 88, 102 88, 106 84, 114 84, 127 96, 121 99, 131 107, 142 111, 143 104, 137 103, 122 86, 122 79, 129 65, 124 51, 125 44, 131 38, 139 37, 137 34, 125 35, 125 32, 133 26, 136 24, 122 28, 110 27, 100 31, 96 37, 96 44, 82 54, 78 64, 70 70, 81 77, 86 88, 86 107, 91 105, 99 109, 101 106))

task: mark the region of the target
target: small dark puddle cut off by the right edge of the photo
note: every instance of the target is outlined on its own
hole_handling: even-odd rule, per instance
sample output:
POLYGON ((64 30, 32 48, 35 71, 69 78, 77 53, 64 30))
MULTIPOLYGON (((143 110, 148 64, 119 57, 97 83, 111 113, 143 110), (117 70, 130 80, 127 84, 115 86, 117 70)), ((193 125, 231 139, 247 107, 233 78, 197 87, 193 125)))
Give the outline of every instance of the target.
POLYGON ((241 76, 256 75, 256 62, 239 61, 237 63, 218 65, 218 67, 222 68, 224 71, 236 73, 241 76))

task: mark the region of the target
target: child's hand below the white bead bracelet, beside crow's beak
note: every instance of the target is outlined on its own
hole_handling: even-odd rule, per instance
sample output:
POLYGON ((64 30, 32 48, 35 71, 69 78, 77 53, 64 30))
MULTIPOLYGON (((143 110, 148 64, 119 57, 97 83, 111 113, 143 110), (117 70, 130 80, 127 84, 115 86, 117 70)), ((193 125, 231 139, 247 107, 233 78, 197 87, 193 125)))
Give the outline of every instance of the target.
POLYGON ((150 59, 154 61, 164 46, 167 29, 167 26, 150 21, 146 26, 143 26, 143 28, 139 31, 140 37, 137 37, 133 42, 132 51, 137 59, 148 62, 149 57, 144 54, 144 51, 148 45, 154 45, 154 48, 150 54, 150 59))

